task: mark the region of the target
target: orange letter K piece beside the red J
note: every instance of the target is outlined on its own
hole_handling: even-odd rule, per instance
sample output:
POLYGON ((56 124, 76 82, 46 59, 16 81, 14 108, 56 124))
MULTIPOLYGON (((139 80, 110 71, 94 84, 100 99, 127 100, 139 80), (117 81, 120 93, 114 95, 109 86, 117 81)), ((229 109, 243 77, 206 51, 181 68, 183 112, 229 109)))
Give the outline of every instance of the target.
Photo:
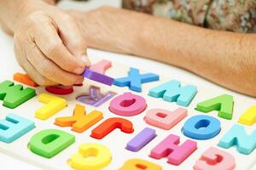
POLYGON ((73 116, 58 117, 55 119, 55 125, 60 127, 73 127, 72 130, 77 133, 83 133, 85 130, 102 120, 101 111, 91 111, 88 115, 85 113, 83 105, 76 105, 73 116))

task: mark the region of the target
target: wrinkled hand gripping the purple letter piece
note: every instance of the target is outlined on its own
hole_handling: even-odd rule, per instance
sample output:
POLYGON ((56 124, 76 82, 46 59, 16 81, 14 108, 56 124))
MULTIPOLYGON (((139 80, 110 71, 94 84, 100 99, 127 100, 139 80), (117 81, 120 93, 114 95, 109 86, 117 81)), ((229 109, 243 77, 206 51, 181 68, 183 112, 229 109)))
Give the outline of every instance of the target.
POLYGON ((33 1, 15 31, 15 54, 20 65, 39 85, 73 85, 90 65, 86 42, 76 20, 54 6, 33 1), (38 5, 38 6, 37 6, 38 5))

